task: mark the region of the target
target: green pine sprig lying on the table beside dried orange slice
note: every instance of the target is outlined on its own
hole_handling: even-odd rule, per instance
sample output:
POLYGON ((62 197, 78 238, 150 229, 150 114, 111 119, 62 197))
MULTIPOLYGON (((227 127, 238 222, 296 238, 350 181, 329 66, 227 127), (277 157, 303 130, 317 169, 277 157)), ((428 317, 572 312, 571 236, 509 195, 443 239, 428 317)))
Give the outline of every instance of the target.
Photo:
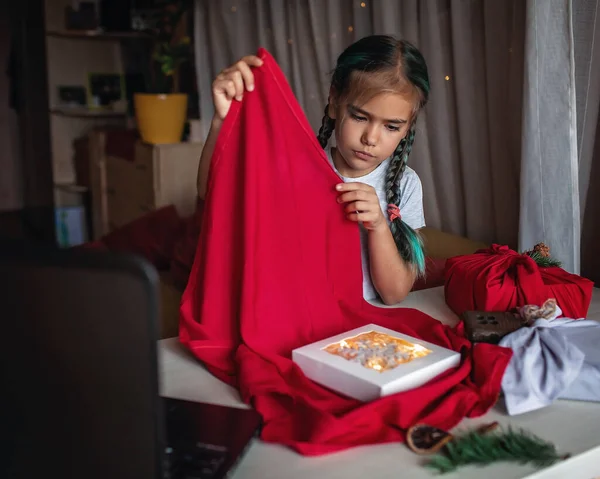
POLYGON ((509 427, 506 432, 467 432, 446 444, 444 453, 431 458, 425 467, 446 474, 468 464, 485 466, 492 462, 510 461, 531 463, 541 468, 561 459, 564 457, 558 455, 553 444, 523 430, 515 432, 509 427))

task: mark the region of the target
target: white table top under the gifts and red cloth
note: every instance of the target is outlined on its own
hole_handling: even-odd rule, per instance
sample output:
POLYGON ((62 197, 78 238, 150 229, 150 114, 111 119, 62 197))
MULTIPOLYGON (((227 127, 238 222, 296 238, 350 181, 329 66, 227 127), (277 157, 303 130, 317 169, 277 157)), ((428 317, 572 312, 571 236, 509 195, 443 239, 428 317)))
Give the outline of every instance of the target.
MULTIPOLYGON (((456 316, 444 302, 443 288, 411 293, 402 304, 453 324, 456 316)), ((590 319, 600 319, 600 293, 595 290, 590 319)), ((176 338, 159 342, 161 394, 166 397, 246 407, 234 388, 219 381, 184 349, 176 338)), ((464 419, 456 430, 498 421, 503 426, 525 428, 553 442, 559 452, 572 457, 553 467, 536 471, 531 466, 498 463, 485 467, 463 467, 441 477, 454 479, 548 478, 592 479, 600 476, 600 404, 557 401, 553 405, 520 416, 509 417, 499 402, 485 416, 464 419)), ((424 458, 413 454, 404 444, 364 446, 321 457, 303 457, 283 446, 253 441, 235 471, 234 479, 363 479, 432 478, 422 467, 424 458)))

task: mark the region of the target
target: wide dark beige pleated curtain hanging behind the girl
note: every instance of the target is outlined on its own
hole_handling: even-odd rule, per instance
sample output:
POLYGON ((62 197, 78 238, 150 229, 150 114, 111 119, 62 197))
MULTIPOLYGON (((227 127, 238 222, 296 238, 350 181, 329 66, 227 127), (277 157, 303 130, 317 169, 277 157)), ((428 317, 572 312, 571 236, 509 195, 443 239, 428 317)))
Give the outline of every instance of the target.
POLYGON ((431 79, 410 160, 428 225, 516 247, 524 24, 522 0, 197 0, 202 120, 217 73, 264 46, 316 131, 343 48, 373 33, 404 37, 431 79))

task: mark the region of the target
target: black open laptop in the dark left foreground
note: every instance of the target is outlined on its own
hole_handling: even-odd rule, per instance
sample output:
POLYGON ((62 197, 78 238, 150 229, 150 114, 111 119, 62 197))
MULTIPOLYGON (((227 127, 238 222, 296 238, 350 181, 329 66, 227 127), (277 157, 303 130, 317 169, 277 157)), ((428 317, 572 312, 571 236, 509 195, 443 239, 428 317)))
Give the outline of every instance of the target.
POLYGON ((0 278, 1 478, 233 473, 260 417, 159 396, 149 263, 0 242, 0 278))

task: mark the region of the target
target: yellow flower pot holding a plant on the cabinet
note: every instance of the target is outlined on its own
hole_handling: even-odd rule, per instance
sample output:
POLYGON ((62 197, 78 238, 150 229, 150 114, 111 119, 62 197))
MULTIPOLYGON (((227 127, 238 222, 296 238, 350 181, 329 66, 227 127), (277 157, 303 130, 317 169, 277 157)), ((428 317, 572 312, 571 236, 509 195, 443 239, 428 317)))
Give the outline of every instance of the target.
POLYGON ((179 143, 185 126, 187 95, 183 93, 134 95, 135 117, 146 143, 179 143))

